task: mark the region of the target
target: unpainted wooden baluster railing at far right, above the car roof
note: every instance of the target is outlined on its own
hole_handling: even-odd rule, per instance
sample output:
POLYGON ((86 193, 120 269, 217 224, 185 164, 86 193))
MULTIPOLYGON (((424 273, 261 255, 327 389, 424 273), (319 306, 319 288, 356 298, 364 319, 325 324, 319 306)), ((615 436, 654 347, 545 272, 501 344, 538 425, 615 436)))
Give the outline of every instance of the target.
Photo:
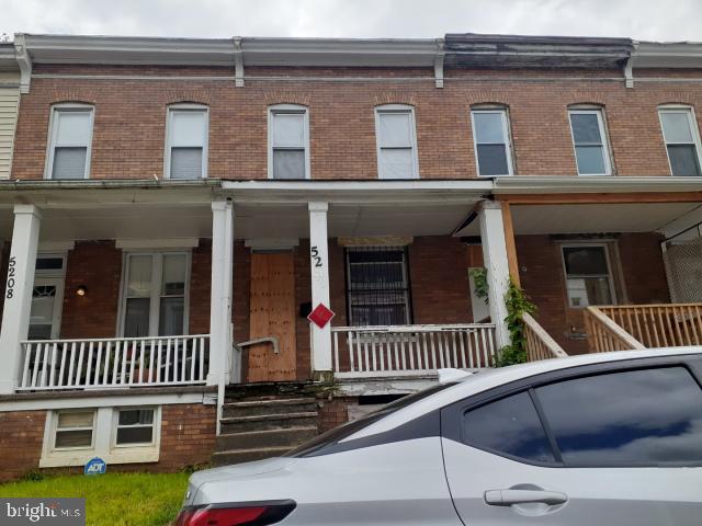
POLYGON ((646 347, 702 345, 702 304, 598 307, 646 347))

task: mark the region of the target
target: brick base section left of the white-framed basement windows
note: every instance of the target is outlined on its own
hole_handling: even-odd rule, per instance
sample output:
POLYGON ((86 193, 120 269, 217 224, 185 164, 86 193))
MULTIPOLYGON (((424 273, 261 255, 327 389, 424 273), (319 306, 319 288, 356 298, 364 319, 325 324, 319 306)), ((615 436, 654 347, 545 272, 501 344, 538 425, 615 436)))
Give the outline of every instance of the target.
POLYGON ((0 482, 38 468, 46 411, 0 413, 0 482))

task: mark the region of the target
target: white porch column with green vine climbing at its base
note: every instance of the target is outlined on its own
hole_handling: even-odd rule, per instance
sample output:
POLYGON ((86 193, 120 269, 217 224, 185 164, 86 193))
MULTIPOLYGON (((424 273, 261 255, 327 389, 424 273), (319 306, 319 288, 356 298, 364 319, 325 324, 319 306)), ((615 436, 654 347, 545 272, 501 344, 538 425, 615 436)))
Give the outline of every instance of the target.
POLYGON ((505 295, 509 286, 509 263, 500 204, 492 201, 482 202, 478 205, 478 218, 480 221, 483 259, 487 268, 488 307, 490 320, 496 327, 495 340, 499 350, 510 343, 507 322, 505 321, 507 317, 505 295))

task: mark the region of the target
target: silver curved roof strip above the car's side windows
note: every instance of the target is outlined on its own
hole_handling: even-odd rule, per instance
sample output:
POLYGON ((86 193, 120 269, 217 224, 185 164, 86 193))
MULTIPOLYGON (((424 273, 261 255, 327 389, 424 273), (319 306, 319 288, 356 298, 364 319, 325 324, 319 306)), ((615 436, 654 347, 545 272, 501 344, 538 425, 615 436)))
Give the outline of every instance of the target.
POLYGON ((642 359, 666 356, 682 356, 689 354, 702 354, 702 346, 649 348, 646 351, 616 351, 612 353, 593 353, 567 358, 543 359, 526 364, 513 365, 495 369, 485 369, 473 374, 452 387, 440 390, 434 395, 401 408, 387 416, 363 427, 341 442, 362 438, 393 430, 422 414, 441 409, 466 397, 499 387, 505 384, 529 378, 543 373, 563 370, 584 365, 621 362, 626 359, 642 359))

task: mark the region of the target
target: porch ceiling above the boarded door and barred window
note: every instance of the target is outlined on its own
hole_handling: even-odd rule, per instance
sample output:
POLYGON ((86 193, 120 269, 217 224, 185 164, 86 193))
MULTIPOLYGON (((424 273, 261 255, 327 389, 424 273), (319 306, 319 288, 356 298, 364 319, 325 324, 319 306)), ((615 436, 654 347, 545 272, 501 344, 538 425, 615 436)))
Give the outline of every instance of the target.
MULTIPOLYGON (((471 204, 330 204, 329 237, 449 236, 471 214, 471 204)), ((237 239, 308 238, 305 204, 240 205, 235 208, 237 239)))

